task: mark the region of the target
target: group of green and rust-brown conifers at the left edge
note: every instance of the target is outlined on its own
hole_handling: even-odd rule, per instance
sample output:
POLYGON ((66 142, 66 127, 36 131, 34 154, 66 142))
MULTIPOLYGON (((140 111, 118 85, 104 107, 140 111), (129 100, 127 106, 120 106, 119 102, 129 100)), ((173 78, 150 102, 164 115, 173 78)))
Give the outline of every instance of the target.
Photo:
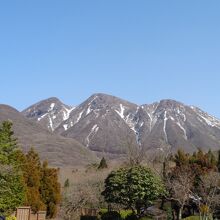
POLYGON ((18 206, 31 206, 34 212, 46 210, 47 217, 57 214, 61 187, 56 168, 40 162, 33 148, 26 154, 14 138, 12 122, 0 126, 0 215, 10 215, 18 206))

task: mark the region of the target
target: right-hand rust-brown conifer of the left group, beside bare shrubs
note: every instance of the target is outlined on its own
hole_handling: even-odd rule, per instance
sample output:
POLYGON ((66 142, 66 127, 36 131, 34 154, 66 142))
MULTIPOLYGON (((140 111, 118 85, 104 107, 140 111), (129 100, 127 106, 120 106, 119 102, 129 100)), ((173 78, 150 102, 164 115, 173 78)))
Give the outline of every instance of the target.
POLYGON ((47 161, 43 163, 41 170, 41 199, 46 205, 47 217, 54 218, 57 214, 57 206, 61 200, 61 187, 58 182, 59 170, 55 168, 49 168, 47 161))

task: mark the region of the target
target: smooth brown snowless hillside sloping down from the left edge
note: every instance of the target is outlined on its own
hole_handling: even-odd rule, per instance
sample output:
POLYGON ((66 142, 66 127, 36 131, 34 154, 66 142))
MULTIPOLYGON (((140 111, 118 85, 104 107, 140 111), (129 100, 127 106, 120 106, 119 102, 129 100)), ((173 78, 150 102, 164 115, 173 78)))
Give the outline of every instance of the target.
POLYGON ((24 151, 34 147, 42 160, 53 166, 75 166, 96 161, 96 156, 74 139, 52 134, 16 109, 0 105, 0 122, 11 120, 18 143, 24 151))

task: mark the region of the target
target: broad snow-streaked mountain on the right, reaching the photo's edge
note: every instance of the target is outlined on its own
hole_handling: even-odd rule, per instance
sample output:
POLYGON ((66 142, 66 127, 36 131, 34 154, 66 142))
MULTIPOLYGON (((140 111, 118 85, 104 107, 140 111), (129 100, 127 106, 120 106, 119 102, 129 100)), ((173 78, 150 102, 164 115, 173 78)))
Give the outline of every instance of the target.
MULTIPOLYGON (((174 100, 141 106, 144 117, 140 127, 140 142, 146 148, 159 148, 161 141, 172 151, 183 148, 193 152, 220 149, 220 121, 193 106, 174 100)), ((163 150, 163 149, 162 149, 163 150)))

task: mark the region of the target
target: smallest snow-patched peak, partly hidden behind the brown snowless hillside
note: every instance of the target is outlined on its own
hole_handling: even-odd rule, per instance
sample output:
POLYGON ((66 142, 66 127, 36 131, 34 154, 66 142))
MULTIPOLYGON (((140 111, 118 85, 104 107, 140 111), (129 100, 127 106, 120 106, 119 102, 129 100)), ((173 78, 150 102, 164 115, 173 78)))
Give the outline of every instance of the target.
POLYGON ((63 121, 69 118, 74 107, 63 104, 58 98, 52 97, 40 101, 25 109, 22 114, 39 122, 50 131, 54 131, 63 121))

